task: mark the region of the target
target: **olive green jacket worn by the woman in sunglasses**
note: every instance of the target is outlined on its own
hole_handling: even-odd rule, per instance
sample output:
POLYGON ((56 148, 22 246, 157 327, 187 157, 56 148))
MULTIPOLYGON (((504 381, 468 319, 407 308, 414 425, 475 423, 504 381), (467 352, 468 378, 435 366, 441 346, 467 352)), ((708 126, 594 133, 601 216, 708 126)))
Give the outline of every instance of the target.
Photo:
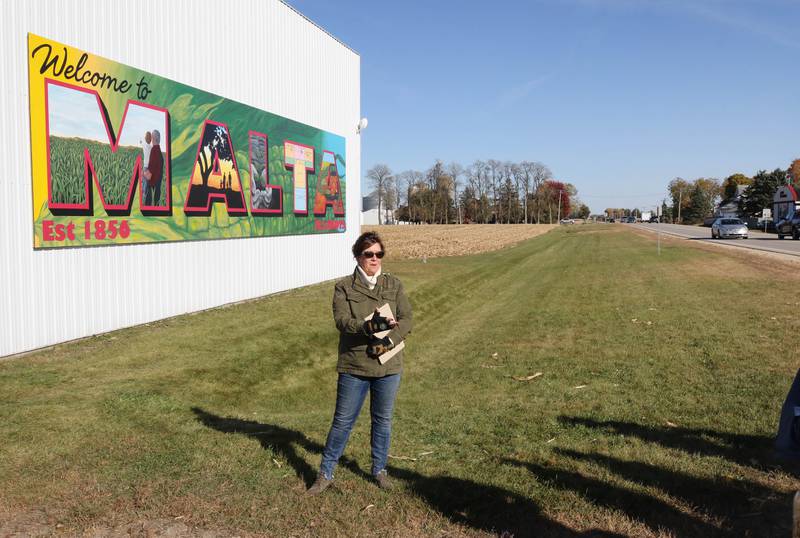
POLYGON ((364 333, 364 318, 376 308, 389 303, 397 321, 389 338, 394 345, 398 345, 411 332, 411 303, 397 277, 382 273, 375 287, 370 290, 361 282, 357 271, 338 281, 333 289, 333 320, 339 329, 339 363, 336 370, 366 377, 399 374, 403 370, 402 350, 386 364, 367 355, 369 336, 364 333))

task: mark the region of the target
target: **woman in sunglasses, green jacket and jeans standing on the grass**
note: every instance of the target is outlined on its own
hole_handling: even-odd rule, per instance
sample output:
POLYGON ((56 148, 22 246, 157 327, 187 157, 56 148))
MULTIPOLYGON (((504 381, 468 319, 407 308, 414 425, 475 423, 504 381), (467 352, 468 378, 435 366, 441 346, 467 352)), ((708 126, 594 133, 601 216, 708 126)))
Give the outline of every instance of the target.
POLYGON ((385 364, 379 357, 399 345, 411 331, 411 304, 400 280, 381 272, 384 253, 383 241, 377 233, 361 234, 353 245, 358 265, 352 275, 338 281, 334 287, 333 319, 339 329, 336 411, 322 452, 319 476, 308 490, 311 495, 321 493, 333 481, 333 469, 344 452, 367 392, 370 393, 372 423, 372 476, 380 488, 390 487, 386 460, 394 400, 403 369, 403 351, 399 350, 385 364), (382 317, 376 312, 387 303, 394 317, 382 317), (365 321, 370 314, 374 314, 372 319, 365 321), (385 337, 375 336, 386 329, 390 332, 385 337))

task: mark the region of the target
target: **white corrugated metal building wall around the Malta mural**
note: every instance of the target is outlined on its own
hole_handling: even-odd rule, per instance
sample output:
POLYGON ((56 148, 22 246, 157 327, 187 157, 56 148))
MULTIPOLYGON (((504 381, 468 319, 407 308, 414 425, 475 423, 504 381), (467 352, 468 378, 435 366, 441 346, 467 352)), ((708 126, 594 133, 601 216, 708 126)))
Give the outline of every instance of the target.
POLYGON ((353 51, 277 0, 28 0, 3 2, 0 9, 5 59, 0 125, 6 136, 0 174, 0 356, 351 270, 348 252, 358 235, 361 201, 355 132, 360 65, 353 51), (346 137, 347 232, 34 251, 28 32, 346 137), (201 53, 195 47, 203 37, 215 47, 201 53), (237 76, 214 76, 208 66, 219 62, 237 76), (294 74, 298 64, 307 76, 294 74), (322 69, 332 83, 313 83, 317 77, 310 73, 322 69), (191 276, 199 267, 239 278, 198 289, 191 276))

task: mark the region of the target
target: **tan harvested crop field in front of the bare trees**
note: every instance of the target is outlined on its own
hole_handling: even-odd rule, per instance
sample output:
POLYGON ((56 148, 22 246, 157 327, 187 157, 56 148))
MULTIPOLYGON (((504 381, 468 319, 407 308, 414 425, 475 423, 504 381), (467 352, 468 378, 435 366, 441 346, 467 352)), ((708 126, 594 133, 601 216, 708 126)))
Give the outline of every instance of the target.
POLYGON ((375 231, 394 259, 463 256, 499 250, 536 237, 557 224, 423 224, 419 226, 362 226, 375 231))

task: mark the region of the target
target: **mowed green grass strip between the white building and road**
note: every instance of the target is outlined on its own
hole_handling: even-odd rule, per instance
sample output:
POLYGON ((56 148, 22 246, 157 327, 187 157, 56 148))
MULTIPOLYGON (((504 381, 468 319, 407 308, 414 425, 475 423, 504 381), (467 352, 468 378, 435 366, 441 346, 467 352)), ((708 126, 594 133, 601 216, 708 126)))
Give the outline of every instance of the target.
MULTIPOLYGON (((331 283, 0 363, 0 514, 269 536, 775 536, 798 278, 621 227, 385 260, 414 306, 390 473, 335 400, 331 283), (533 377, 541 372, 542 375, 533 377), (526 378, 530 378, 525 380, 526 378)), ((1 527, 0 527, 1 528, 1 527)))

